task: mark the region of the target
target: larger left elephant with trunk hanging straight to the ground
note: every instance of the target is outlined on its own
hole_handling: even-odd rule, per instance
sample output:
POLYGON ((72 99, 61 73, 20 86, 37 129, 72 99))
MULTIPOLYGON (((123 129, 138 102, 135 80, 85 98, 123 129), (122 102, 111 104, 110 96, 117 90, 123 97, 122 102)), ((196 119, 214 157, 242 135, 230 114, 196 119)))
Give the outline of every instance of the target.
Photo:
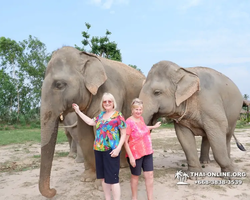
MULTIPOLYGON (((47 197, 56 195, 50 188, 50 175, 58 132, 59 116, 73 112, 72 104, 90 118, 100 113, 102 95, 114 95, 117 110, 129 117, 130 103, 139 96, 145 76, 122 62, 64 46, 55 52, 48 63, 41 94, 41 164, 39 191, 47 197)), ((96 180, 93 144, 95 132, 77 115, 77 136, 84 158, 82 181, 96 180)), ((121 166, 127 165, 125 151, 121 166)))

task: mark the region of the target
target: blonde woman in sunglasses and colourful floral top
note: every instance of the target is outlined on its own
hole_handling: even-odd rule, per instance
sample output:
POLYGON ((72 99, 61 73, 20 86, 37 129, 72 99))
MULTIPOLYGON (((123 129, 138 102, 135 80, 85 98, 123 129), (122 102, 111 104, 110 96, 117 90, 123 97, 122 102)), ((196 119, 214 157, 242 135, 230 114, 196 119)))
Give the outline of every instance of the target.
POLYGON ((112 94, 104 93, 100 108, 102 112, 91 119, 73 104, 75 112, 90 126, 96 126, 94 141, 96 177, 102 179, 105 199, 120 200, 119 184, 120 151, 126 137, 126 123, 121 112, 116 111, 116 101, 112 94))

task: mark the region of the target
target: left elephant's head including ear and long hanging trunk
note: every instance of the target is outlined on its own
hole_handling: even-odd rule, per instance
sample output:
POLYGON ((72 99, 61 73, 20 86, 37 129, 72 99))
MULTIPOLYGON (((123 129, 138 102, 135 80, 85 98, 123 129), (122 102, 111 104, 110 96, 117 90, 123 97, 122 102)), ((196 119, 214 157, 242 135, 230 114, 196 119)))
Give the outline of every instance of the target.
MULTIPOLYGON (((41 97, 41 166, 39 190, 45 197, 56 194, 50 188, 50 174, 57 139, 59 116, 72 110, 77 103, 87 111, 107 76, 100 60, 73 47, 53 53, 46 69, 41 97)), ((94 136, 93 136, 94 137, 94 136)))

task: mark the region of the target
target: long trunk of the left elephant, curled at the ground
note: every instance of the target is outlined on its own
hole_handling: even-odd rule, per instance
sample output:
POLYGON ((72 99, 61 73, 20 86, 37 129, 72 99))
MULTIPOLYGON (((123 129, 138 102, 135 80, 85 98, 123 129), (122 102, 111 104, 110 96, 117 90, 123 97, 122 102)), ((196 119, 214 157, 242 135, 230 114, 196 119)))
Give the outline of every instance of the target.
POLYGON ((59 118, 56 120, 50 119, 49 122, 45 122, 44 119, 41 119, 42 140, 39 191, 47 198, 52 198, 56 195, 56 190, 50 188, 50 174, 58 133, 58 123, 59 118))

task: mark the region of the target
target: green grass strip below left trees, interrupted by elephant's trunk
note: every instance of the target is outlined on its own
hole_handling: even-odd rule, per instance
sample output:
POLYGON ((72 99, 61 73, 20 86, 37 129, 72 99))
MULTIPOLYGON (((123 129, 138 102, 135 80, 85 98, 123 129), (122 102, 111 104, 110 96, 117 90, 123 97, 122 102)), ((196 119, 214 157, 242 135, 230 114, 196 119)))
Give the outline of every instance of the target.
MULTIPOLYGON (((23 144, 26 142, 41 142, 41 129, 14 129, 0 131, 0 146, 9 144, 23 144)), ((58 131, 57 143, 67 142, 67 137, 63 130, 58 131)))

